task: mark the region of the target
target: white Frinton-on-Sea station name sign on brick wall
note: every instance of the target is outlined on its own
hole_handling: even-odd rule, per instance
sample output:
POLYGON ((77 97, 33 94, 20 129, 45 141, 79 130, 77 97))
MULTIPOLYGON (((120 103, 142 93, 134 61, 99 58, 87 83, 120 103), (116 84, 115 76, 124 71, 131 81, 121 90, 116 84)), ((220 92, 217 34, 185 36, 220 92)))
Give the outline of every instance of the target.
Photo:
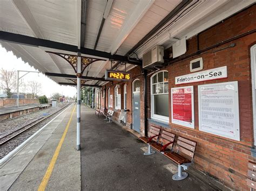
POLYGON ((196 72, 192 74, 187 74, 183 76, 175 77, 175 84, 185 84, 194 82, 203 82, 210 80, 224 79, 227 77, 227 66, 208 69, 202 72, 196 72))

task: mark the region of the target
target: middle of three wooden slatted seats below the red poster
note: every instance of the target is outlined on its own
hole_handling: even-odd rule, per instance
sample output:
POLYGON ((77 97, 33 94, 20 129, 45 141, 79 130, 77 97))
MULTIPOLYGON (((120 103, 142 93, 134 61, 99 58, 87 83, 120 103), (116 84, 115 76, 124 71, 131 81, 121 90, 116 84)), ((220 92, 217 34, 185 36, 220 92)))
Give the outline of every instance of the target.
POLYGON ((164 154, 164 151, 167 149, 172 150, 174 138, 175 135, 173 133, 162 130, 161 135, 159 136, 159 141, 150 143, 150 145, 158 152, 164 154))

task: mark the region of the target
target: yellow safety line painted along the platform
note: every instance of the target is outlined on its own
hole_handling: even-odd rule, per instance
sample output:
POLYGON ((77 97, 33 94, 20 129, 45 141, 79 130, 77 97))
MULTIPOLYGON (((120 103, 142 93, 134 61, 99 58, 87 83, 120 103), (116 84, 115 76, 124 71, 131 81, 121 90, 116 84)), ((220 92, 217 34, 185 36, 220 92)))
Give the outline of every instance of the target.
POLYGON ((60 148, 62 147, 62 144, 63 144, 64 139, 65 139, 65 137, 66 137, 66 133, 67 133, 68 130, 69 130, 69 126, 70 126, 70 123, 71 123, 71 121, 72 121, 72 117, 73 117, 73 113, 74 113, 75 109, 76 109, 76 105, 75 105, 75 107, 74 107, 74 109, 73 109, 73 111, 72 111, 72 114, 71 114, 71 116, 70 116, 69 122, 68 122, 68 124, 66 125, 66 129, 65 129, 65 131, 63 132, 62 138, 61 138, 60 141, 59 141, 59 144, 58 144, 58 146, 57 146, 57 148, 56 148, 56 150, 55 150, 55 153, 54 153, 53 156, 52 156, 51 162, 50 162, 50 164, 49 164, 49 166, 48 166, 48 168, 47 168, 47 170, 46 170, 46 172, 45 172, 45 174, 44 174, 44 178, 43 178, 41 184, 39 185, 39 187, 38 187, 38 189, 37 189, 38 191, 45 190, 45 188, 46 188, 46 186, 47 186, 47 184, 48 184, 48 181, 49 181, 49 179, 50 179, 51 173, 52 173, 52 171, 53 171, 53 168, 54 168, 54 166, 55 166, 56 160, 57 160, 57 158, 58 158, 60 148))

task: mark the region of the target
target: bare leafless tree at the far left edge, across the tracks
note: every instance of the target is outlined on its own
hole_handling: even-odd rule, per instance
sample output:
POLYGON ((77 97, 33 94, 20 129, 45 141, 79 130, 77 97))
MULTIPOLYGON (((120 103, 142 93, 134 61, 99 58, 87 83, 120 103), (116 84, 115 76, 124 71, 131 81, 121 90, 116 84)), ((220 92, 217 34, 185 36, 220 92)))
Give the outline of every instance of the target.
POLYGON ((5 70, 2 68, 0 71, 0 80, 8 98, 11 98, 11 92, 16 91, 17 89, 17 77, 15 70, 5 70))

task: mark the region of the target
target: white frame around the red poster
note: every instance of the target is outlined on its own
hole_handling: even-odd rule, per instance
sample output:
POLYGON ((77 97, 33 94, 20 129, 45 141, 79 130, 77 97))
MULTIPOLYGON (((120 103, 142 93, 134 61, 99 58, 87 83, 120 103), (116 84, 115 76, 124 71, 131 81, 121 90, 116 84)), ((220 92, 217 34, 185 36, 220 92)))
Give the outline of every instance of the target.
POLYGON ((183 87, 171 88, 171 117, 172 117, 173 124, 177 124, 177 125, 185 126, 186 128, 194 129, 194 86, 183 86, 183 87), (191 88, 192 123, 180 121, 178 119, 173 119, 173 99, 172 99, 173 92, 172 92, 172 90, 184 89, 184 88, 191 88))

